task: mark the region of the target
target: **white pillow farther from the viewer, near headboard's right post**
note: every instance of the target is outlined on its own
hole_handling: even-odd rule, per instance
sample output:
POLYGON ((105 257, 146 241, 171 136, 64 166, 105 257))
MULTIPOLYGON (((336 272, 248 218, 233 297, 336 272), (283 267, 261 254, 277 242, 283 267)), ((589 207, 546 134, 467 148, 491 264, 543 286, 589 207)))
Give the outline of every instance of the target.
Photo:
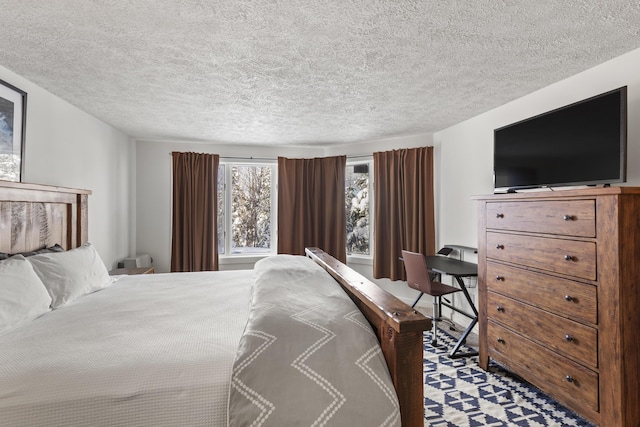
POLYGON ((100 255, 90 243, 27 259, 49 291, 54 309, 112 283, 100 255))

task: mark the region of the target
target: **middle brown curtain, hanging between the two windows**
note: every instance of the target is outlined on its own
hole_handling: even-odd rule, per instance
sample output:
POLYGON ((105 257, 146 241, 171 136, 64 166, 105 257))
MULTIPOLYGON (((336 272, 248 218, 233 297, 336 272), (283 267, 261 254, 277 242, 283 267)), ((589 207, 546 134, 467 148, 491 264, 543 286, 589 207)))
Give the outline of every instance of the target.
POLYGON ((278 158, 278 253, 304 255, 316 246, 346 262, 346 163, 346 156, 278 158))

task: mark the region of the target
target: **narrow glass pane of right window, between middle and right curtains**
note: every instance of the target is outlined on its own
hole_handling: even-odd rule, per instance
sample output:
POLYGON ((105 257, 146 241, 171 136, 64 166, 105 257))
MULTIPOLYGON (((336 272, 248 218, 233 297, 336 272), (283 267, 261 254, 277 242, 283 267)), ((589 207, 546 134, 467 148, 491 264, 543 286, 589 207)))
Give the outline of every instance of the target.
POLYGON ((369 255, 369 164, 347 165, 345 171, 347 254, 369 255))

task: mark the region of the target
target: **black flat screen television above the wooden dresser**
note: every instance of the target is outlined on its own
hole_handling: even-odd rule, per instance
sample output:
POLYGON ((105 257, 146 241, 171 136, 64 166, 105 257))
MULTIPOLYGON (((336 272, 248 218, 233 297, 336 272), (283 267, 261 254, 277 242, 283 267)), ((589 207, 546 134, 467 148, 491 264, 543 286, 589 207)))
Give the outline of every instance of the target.
POLYGON ((627 87, 494 131, 496 192, 626 181, 627 87))

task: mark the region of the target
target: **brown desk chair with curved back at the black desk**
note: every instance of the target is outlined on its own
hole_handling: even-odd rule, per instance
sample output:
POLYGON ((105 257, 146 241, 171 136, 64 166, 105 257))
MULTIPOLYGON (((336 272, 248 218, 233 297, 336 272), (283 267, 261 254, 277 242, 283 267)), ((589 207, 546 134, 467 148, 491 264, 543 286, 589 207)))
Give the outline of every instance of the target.
POLYGON ((439 347, 437 332, 438 319, 440 318, 440 298, 443 295, 460 292, 461 289, 445 285, 444 283, 432 281, 424 255, 403 250, 402 258, 404 259, 404 268, 407 272, 407 284, 410 288, 420 291, 420 295, 418 295, 418 298, 411 307, 415 307, 424 294, 431 295, 433 297, 433 316, 431 318, 431 332, 433 339, 431 340, 431 345, 439 347))

